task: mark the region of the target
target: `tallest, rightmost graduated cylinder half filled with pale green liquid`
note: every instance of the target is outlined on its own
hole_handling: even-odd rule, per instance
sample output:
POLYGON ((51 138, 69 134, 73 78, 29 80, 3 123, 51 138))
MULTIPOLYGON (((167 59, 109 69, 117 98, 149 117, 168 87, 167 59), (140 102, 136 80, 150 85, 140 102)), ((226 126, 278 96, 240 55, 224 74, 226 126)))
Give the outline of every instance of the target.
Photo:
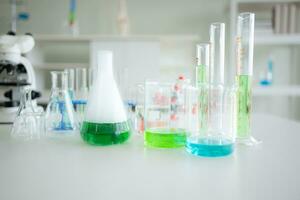
POLYGON ((259 143, 251 135, 250 115, 252 105, 254 13, 241 13, 237 22, 237 142, 254 145, 259 143))

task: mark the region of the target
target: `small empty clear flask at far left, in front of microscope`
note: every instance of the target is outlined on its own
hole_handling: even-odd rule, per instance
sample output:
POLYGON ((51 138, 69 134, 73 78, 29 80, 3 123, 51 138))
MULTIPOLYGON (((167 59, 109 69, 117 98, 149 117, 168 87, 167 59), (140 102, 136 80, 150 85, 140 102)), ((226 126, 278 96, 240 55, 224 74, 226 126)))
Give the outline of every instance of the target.
POLYGON ((22 91, 19 110, 11 130, 12 137, 30 140, 40 139, 45 135, 45 113, 33 102, 31 92, 30 88, 22 91))

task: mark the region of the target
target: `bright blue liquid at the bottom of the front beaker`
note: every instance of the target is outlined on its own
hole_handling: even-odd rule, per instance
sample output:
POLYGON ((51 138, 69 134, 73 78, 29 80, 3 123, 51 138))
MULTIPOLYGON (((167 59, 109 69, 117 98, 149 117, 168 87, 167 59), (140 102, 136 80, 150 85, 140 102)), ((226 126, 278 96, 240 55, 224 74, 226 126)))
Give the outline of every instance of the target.
POLYGON ((188 140, 187 151, 196 156, 220 157, 231 154, 234 144, 228 139, 201 138, 198 140, 188 140))

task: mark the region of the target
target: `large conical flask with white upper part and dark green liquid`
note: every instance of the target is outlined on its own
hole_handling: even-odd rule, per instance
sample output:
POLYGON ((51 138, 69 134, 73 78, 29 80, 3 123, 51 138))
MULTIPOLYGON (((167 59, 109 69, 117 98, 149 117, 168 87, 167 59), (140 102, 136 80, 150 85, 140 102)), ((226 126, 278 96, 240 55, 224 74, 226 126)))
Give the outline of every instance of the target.
POLYGON ((98 52, 96 79, 89 92, 81 136, 93 145, 125 142, 130 135, 124 104, 113 76, 112 52, 98 52))

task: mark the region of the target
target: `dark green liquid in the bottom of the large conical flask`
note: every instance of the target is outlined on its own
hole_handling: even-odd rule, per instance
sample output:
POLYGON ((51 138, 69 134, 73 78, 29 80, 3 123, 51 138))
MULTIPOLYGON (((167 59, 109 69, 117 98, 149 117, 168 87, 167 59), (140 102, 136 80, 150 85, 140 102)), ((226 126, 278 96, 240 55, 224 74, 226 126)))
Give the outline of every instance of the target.
POLYGON ((82 139, 92 145, 121 144, 128 140, 130 128, 127 122, 91 123, 84 121, 80 130, 82 139))

